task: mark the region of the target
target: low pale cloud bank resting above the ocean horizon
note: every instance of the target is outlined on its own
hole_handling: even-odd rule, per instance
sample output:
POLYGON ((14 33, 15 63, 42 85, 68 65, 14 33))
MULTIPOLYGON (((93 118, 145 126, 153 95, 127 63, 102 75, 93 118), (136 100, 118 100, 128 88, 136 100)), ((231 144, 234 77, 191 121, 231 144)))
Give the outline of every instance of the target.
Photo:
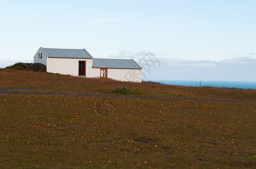
POLYGON ((143 72, 148 79, 206 80, 206 81, 256 81, 256 59, 184 60, 159 58, 160 66, 143 72))

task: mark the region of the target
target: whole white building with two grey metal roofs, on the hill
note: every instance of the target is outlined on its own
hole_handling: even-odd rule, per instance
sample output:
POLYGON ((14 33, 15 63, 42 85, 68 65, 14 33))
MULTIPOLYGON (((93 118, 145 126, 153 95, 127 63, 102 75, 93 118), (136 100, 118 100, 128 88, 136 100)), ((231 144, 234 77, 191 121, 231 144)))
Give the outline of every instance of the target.
POLYGON ((86 49, 40 47, 34 63, 44 64, 49 73, 142 82, 142 67, 133 59, 95 59, 86 49))

